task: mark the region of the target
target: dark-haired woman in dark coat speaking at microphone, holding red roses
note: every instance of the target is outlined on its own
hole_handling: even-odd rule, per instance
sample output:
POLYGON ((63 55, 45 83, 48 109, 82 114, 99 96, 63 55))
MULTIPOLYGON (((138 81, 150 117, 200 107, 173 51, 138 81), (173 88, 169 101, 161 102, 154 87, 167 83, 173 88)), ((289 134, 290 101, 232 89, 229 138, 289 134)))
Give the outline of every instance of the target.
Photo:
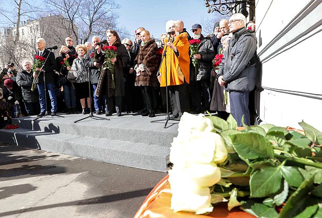
MULTIPOLYGON (((122 96, 125 96, 123 67, 129 63, 129 56, 119 34, 115 30, 106 31, 107 43, 109 46, 104 46, 105 62, 101 77, 106 74, 106 114, 111 116, 113 113, 113 98, 115 99, 116 114, 122 116, 122 96), (105 71, 105 72, 104 72, 105 71)), ((100 52, 98 47, 98 53, 100 52)), ((98 87, 101 86, 103 80, 100 78, 98 87)))

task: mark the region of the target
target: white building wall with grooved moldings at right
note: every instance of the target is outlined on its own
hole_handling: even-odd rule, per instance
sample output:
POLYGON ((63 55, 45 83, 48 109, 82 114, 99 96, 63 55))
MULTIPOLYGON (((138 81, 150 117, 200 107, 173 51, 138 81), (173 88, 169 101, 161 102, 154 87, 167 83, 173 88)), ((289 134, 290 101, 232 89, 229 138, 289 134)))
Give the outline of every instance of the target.
POLYGON ((257 0, 256 113, 263 123, 322 131, 322 0, 257 0))

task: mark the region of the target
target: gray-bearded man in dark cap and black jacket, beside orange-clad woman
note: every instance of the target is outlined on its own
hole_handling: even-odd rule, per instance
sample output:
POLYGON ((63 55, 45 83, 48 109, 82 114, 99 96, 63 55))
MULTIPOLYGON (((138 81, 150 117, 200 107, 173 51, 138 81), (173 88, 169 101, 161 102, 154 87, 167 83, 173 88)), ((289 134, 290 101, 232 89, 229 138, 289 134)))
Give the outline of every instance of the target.
POLYGON ((190 67, 191 82, 191 102, 195 113, 203 113, 210 108, 210 73, 213 68, 213 59, 215 57, 214 46, 210 39, 206 39, 202 34, 200 24, 192 26, 193 39, 200 40, 198 54, 194 54, 197 66, 190 67), (197 75, 195 75, 197 74, 197 75))

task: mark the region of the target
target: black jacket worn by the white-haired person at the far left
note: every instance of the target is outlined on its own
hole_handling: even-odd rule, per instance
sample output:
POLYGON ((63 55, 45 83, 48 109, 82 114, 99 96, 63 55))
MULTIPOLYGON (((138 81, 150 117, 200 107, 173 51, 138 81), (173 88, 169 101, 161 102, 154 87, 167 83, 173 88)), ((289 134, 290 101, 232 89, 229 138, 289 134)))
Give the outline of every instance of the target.
POLYGON ((38 89, 30 90, 32 81, 32 71, 30 74, 26 70, 18 72, 16 82, 21 87, 23 102, 39 102, 38 89))

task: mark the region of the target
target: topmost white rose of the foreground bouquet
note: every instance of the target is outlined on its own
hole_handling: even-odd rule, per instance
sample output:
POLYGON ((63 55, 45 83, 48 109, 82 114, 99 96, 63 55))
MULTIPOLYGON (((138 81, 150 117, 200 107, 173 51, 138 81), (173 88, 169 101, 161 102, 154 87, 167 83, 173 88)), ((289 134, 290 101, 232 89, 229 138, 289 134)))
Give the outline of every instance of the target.
POLYGON ((184 112, 179 122, 178 136, 186 137, 194 131, 211 132, 212 130, 214 130, 213 122, 204 115, 195 116, 184 112))

